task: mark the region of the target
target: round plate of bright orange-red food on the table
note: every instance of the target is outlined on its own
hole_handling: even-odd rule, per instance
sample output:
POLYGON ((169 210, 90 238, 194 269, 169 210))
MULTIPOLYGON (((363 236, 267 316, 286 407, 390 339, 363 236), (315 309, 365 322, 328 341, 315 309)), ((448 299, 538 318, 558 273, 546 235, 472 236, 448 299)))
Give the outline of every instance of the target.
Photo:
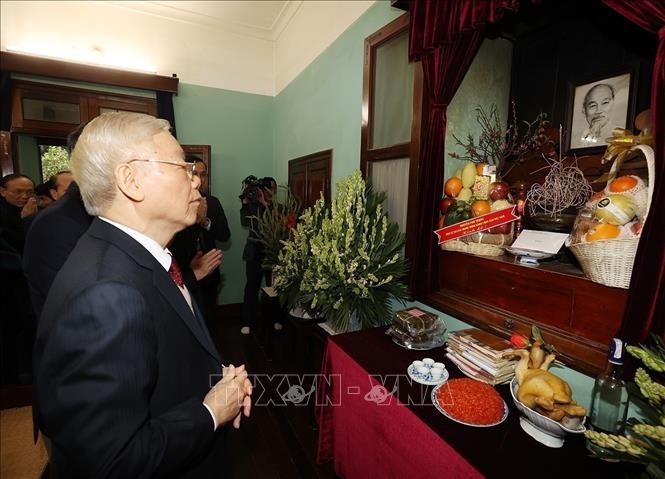
POLYGON ((489 384, 451 379, 432 390, 432 403, 448 419, 465 426, 492 427, 508 417, 508 405, 489 384))

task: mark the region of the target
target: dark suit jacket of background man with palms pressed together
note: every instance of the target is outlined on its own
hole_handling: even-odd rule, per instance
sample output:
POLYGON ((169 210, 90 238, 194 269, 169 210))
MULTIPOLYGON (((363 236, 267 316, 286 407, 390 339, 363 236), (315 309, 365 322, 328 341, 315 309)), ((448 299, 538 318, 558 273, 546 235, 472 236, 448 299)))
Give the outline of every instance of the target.
MULTIPOLYGON (((194 224, 175 235, 170 250, 178 263, 189 266, 197 251, 207 253, 216 248, 216 241, 228 241, 231 237, 229 223, 224 214, 224 208, 214 196, 204 195, 208 200, 208 218, 210 218, 210 231, 199 224, 194 224)), ((221 276, 219 268, 199 281, 202 292, 217 296, 217 286, 221 276)))

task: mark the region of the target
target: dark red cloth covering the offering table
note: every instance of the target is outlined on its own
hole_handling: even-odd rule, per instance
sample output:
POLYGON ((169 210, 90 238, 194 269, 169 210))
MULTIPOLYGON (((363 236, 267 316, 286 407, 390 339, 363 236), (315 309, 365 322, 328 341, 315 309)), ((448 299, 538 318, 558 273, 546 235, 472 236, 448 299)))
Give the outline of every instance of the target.
POLYGON ((533 475, 618 477, 624 465, 587 455, 583 435, 564 447, 546 447, 519 425, 508 386, 497 390, 509 406, 506 421, 490 428, 458 424, 432 405, 432 388, 411 382, 406 368, 415 359, 444 359, 443 348, 408 351, 385 328, 342 334, 328 340, 317 388, 319 463, 334 461, 345 478, 474 478, 533 475))

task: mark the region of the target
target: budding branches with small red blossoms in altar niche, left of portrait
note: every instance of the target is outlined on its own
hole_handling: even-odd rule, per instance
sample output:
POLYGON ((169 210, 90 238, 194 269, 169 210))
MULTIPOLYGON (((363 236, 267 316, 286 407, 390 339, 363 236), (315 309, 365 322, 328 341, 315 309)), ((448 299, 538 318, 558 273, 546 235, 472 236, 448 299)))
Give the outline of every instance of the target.
POLYGON ((539 152, 543 147, 551 145, 546 134, 549 122, 545 113, 540 113, 532 122, 523 121, 526 129, 520 137, 514 101, 511 106, 511 121, 506 130, 503 129, 495 104, 492 104, 489 112, 477 106, 476 121, 480 125, 478 140, 469 134, 464 142, 453 135, 457 145, 464 148, 465 154, 452 152, 449 155, 458 160, 495 165, 497 175, 505 177, 529 153, 539 152))

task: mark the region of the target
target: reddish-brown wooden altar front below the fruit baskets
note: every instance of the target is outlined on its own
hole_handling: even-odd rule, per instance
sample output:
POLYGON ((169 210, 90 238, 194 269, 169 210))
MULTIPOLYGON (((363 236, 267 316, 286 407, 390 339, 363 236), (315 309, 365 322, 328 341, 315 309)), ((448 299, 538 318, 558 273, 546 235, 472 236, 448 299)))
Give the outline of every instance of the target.
POLYGON ((627 291, 593 283, 570 266, 522 266, 513 257, 486 258, 442 251, 440 290, 430 303, 442 311, 506 337, 531 324, 555 343, 561 357, 583 372, 605 365, 627 291))

